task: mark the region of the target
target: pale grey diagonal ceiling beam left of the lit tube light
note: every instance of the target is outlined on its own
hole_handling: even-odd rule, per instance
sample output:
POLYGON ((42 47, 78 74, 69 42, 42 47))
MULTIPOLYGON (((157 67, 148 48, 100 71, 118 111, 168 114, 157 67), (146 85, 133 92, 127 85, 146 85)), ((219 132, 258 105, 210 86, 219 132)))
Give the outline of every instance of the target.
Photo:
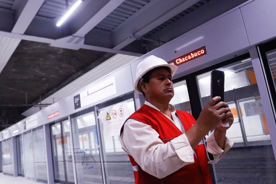
POLYGON ((24 34, 43 2, 44 0, 23 0, 16 12, 16 23, 11 32, 24 34))

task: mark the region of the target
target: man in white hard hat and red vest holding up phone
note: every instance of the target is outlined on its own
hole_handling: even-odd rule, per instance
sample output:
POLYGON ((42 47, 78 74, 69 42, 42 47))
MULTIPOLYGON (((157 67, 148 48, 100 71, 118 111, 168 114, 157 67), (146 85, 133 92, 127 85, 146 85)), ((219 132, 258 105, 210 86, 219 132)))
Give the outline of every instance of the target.
POLYGON ((145 104, 121 129, 121 145, 129 155, 136 184, 212 183, 208 162, 216 163, 232 147, 225 134, 233 115, 225 102, 216 104, 220 97, 209 101, 197 121, 169 104, 177 68, 148 56, 136 69, 134 88, 144 95, 145 104), (212 129, 206 148, 204 138, 212 129))

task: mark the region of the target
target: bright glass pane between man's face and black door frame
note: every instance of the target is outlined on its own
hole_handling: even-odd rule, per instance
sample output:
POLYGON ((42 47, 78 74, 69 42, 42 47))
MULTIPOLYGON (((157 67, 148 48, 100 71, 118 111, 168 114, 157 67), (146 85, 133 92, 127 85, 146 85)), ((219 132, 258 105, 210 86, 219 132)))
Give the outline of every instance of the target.
POLYGON ((170 104, 174 105, 175 109, 192 113, 186 80, 174 84, 174 97, 170 104))

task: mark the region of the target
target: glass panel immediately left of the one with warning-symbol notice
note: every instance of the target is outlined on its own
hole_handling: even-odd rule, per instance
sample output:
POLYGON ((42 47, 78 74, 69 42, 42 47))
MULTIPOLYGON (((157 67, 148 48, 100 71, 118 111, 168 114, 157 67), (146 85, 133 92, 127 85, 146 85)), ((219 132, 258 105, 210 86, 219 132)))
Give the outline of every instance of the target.
POLYGON ((78 183, 102 183, 102 167, 94 112, 72 118, 78 183))

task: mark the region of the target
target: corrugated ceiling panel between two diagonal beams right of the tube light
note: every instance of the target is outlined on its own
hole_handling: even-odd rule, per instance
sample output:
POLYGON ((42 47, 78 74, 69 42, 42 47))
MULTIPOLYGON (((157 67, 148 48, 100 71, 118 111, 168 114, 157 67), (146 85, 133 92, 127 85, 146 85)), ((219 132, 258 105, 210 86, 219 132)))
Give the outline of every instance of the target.
POLYGON ((97 29, 111 31, 130 17, 133 13, 137 12, 140 8, 148 4, 150 0, 125 0, 120 6, 113 10, 106 16, 98 25, 97 29))

